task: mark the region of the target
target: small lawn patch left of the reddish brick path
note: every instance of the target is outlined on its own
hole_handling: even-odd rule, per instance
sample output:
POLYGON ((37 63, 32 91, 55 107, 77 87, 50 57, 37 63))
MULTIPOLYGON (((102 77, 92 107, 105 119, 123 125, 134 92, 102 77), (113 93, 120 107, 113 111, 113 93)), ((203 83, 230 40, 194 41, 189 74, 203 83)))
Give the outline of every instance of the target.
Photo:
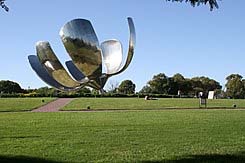
POLYGON ((30 111, 54 99, 55 98, 0 98, 0 112, 30 111))

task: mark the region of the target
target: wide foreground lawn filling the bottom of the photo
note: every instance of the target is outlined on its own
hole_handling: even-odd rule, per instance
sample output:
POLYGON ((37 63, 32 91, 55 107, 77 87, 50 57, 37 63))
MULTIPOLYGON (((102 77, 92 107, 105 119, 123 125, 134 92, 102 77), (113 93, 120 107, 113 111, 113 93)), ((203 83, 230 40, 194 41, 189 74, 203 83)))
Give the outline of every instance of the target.
POLYGON ((0 113, 0 162, 244 162, 245 111, 0 113))

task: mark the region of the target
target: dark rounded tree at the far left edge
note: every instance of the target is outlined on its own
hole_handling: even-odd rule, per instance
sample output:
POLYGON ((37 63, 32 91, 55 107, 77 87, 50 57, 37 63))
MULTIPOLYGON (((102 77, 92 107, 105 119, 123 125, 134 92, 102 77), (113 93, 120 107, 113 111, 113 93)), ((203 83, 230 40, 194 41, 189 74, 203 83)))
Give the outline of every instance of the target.
POLYGON ((23 89, 16 82, 9 80, 0 81, 0 93, 22 93, 23 89))

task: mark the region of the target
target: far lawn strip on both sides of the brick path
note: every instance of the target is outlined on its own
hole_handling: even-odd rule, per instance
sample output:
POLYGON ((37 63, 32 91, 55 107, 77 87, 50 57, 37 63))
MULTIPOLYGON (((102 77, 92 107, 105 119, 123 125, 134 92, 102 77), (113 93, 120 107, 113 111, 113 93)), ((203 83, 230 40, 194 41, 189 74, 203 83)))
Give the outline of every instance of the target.
MULTIPOLYGON (((0 98, 0 112, 30 111, 55 98, 0 98), (44 102, 42 102, 44 100, 44 102)), ((208 100, 208 108, 245 108, 245 100, 208 100)), ((164 108, 198 108, 199 99, 160 98, 145 101, 143 98, 77 98, 62 110, 146 110, 164 108)))

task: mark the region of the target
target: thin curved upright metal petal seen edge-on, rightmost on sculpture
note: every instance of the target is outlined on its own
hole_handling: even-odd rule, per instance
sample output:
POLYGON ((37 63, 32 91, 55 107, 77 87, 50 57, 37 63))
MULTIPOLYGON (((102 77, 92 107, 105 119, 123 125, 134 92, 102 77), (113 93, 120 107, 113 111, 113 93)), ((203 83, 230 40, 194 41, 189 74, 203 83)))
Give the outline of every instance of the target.
POLYGON ((132 61, 132 58, 134 55, 134 48, 136 44, 136 33, 135 33, 135 27, 134 27, 134 22, 132 18, 128 18, 128 26, 129 26, 129 31, 130 31, 130 38, 129 38, 129 48, 128 48, 128 56, 126 59, 126 63, 118 72, 114 74, 108 74, 108 77, 112 75, 117 75, 123 72, 129 66, 130 62, 132 61))

